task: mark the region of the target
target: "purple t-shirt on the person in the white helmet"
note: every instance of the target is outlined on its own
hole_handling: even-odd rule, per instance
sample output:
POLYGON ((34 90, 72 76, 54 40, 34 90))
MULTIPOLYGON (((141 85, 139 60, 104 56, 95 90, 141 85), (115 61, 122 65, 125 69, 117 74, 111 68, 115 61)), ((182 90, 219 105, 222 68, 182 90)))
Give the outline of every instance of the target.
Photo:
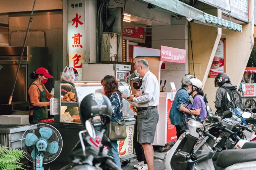
MULTIPOLYGON (((194 96, 193 101, 194 101, 193 105, 188 104, 188 108, 190 110, 195 110, 197 108, 201 109, 199 117, 201 117, 202 120, 204 120, 205 117, 207 116, 207 111, 206 111, 205 101, 203 101, 203 96, 201 96, 200 94, 197 94, 196 96, 194 96)), ((187 118, 190 118, 190 114, 187 114, 187 118)))

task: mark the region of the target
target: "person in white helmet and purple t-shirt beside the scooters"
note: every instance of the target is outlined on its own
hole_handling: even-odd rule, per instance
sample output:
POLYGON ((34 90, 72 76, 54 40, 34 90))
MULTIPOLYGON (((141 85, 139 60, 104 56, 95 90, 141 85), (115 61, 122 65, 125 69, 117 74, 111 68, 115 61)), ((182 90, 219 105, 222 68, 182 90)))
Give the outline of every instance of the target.
MULTIPOLYGON (((189 95, 193 97, 193 104, 188 104, 188 108, 191 110, 194 116, 201 117, 202 120, 207 116, 206 105, 203 101, 203 84, 199 79, 190 79, 188 85, 189 95)), ((187 118, 190 117, 190 111, 181 104, 180 110, 187 113, 187 118)), ((188 127, 187 127, 188 128, 188 127)))

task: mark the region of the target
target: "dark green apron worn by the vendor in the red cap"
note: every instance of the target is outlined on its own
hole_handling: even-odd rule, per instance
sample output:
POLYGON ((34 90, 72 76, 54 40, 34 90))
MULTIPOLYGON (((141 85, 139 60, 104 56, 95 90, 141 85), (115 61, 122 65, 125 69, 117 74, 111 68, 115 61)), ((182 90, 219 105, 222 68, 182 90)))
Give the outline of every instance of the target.
MULTIPOLYGON (((34 84, 34 85, 36 85, 36 84, 34 84)), ((41 91, 38 86, 37 86, 37 88, 40 91, 40 100, 39 101, 47 102, 47 100, 46 100, 46 89, 44 88, 44 86, 43 86, 44 91, 41 91)), ((47 106, 42 106, 42 107, 34 106, 32 108, 32 110, 33 110, 33 122, 38 122, 42 119, 48 118, 47 106)))

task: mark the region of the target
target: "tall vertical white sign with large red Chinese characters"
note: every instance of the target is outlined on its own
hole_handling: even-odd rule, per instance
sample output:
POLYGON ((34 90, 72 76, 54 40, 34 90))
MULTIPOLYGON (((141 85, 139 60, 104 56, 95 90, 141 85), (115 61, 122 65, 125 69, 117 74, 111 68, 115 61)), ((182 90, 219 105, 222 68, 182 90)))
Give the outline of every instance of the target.
POLYGON ((84 0, 68 0, 68 66, 74 67, 82 80, 85 63, 84 0))

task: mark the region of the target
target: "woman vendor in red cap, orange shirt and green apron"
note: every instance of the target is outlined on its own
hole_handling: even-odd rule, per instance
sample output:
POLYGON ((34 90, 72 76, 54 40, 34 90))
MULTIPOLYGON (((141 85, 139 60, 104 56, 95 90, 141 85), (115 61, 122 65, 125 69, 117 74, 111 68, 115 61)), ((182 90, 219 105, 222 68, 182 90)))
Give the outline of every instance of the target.
POLYGON ((30 113, 29 122, 38 122, 42 119, 48 118, 47 106, 50 105, 50 98, 53 96, 46 89, 44 84, 48 79, 53 78, 47 69, 40 67, 30 74, 31 79, 36 79, 28 89, 28 96, 30 99, 30 113), (33 117, 32 117, 33 115, 33 117))

